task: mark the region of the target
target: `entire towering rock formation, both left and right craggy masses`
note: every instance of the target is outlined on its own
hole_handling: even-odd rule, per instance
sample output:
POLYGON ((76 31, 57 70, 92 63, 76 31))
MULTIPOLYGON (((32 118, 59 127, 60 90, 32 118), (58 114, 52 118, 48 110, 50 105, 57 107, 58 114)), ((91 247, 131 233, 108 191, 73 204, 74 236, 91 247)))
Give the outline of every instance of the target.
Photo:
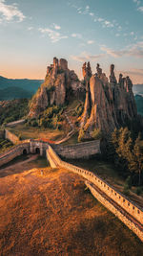
POLYGON ((68 68, 66 59, 53 58, 53 63, 47 68, 44 83, 31 99, 29 117, 36 118, 48 106, 64 105, 72 95, 81 99, 83 94, 84 97, 86 94, 86 99, 80 128, 84 129, 88 138, 92 137, 94 129, 109 134, 114 128, 126 126, 127 122, 137 116, 133 83, 129 77, 123 78, 122 74, 117 82, 113 64, 109 79, 98 63, 95 74, 92 75, 90 62, 83 64, 82 73, 83 82, 68 68))

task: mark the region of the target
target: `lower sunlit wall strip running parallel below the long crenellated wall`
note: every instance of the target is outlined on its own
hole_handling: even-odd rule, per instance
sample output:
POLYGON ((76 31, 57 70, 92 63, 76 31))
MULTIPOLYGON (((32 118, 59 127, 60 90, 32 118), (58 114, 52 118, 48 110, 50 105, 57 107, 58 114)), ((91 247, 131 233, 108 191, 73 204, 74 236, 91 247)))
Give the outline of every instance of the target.
POLYGON ((91 190, 92 195, 98 199, 98 201, 100 201, 106 208, 108 208, 120 221, 122 221, 123 223, 125 223, 131 230, 133 230, 133 232, 138 236, 138 238, 143 242, 143 232, 142 230, 140 230, 135 223, 133 223, 133 221, 131 221, 130 219, 128 219, 123 213, 122 211, 120 211, 119 209, 117 209, 116 207, 114 207, 114 205, 112 204, 112 202, 110 202, 110 200, 108 200, 107 198, 102 197, 102 195, 100 193, 98 193, 98 191, 93 188, 92 184, 90 184, 90 182, 86 181, 85 182, 87 187, 91 190))

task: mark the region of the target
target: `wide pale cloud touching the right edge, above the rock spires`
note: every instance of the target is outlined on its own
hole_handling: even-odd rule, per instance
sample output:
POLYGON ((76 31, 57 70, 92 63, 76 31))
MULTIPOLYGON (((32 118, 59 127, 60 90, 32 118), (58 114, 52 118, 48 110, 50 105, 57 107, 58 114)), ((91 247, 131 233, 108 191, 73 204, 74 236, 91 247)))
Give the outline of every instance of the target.
POLYGON ((120 58, 124 56, 143 58, 143 41, 137 42, 132 46, 128 46, 127 49, 123 50, 112 50, 108 47, 101 46, 100 48, 103 52, 106 52, 107 55, 112 56, 113 58, 120 58))

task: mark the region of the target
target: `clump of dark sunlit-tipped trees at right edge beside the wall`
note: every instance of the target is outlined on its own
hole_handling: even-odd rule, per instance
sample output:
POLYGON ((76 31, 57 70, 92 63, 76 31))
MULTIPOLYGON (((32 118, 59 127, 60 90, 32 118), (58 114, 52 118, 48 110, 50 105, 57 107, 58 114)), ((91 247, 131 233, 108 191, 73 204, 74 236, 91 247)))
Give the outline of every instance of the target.
POLYGON ((128 128, 115 129, 112 132, 112 146, 109 153, 124 177, 131 175, 133 185, 143 185, 143 148, 141 134, 133 139, 128 128))

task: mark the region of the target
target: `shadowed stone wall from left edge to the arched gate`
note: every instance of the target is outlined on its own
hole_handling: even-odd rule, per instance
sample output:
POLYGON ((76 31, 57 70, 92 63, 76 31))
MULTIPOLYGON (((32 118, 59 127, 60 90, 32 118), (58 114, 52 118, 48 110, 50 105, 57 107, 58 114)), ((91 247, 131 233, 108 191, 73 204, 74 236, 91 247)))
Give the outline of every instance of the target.
POLYGON ((0 154, 0 166, 9 163, 16 156, 23 154, 23 151, 26 150, 27 153, 30 152, 30 143, 19 144, 10 151, 4 152, 0 154))

